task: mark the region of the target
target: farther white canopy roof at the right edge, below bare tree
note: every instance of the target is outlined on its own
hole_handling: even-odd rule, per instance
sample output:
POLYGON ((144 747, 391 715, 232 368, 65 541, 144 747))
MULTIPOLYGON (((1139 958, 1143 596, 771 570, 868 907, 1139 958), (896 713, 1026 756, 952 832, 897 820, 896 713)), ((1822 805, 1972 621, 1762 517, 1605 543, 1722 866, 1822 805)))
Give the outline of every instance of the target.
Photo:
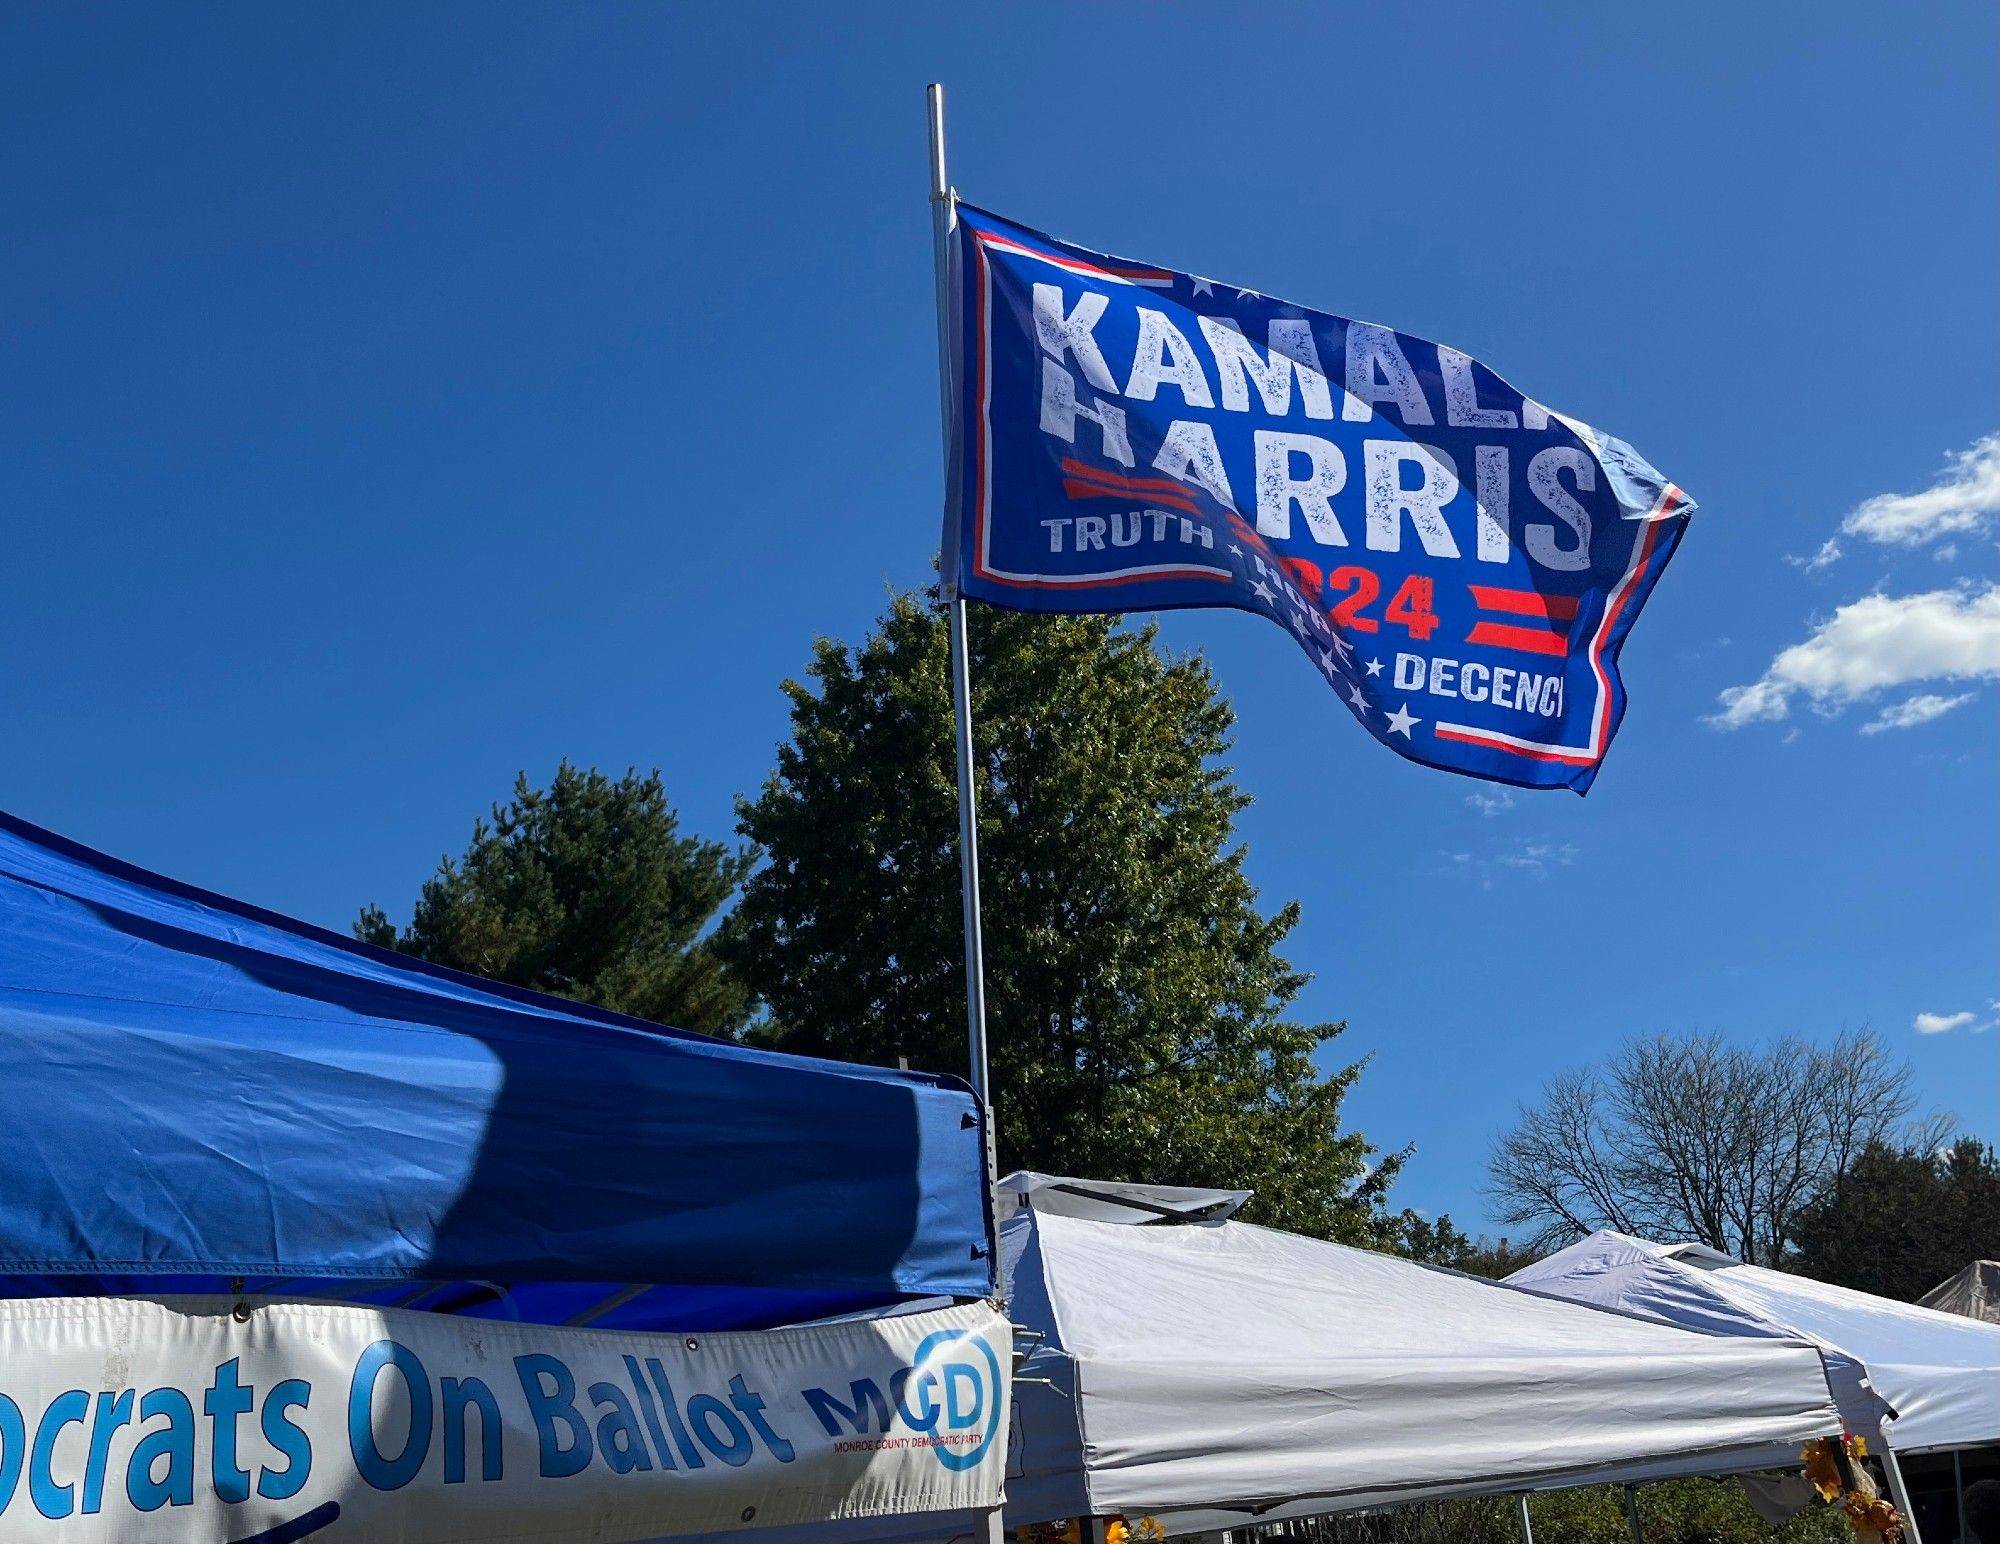
POLYGON ((2000 1442, 1994 1324, 1618 1232, 1590 1234, 1508 1284, 1712 1334, 1812 1340, 1846 1424, 1886 1420, 1900 1452, 2000 1442))

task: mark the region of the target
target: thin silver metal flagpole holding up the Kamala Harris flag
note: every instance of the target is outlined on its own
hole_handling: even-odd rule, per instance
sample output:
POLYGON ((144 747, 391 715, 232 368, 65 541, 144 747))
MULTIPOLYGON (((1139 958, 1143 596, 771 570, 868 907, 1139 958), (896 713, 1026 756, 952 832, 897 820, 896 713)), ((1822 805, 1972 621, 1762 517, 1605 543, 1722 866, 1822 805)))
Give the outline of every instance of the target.
MULTIPOLYGON (((930 106, 930 246, 938 284, 938 412, 944 424, 944 474, 952 474, 952 298, 950 248, 958 198, 944 174, 944 86, 924 88, 930 106)), ((966 1050, 972 1094, 986 1122, 986 1180, 994 1174, 994 1100, 986 1068, 986 944, 980 934, 980 834, 972 784, 972 650, 964 596, 946 596, 952 626, 952 720, 958 730, 958 876, 966 918, 966 1050)))

